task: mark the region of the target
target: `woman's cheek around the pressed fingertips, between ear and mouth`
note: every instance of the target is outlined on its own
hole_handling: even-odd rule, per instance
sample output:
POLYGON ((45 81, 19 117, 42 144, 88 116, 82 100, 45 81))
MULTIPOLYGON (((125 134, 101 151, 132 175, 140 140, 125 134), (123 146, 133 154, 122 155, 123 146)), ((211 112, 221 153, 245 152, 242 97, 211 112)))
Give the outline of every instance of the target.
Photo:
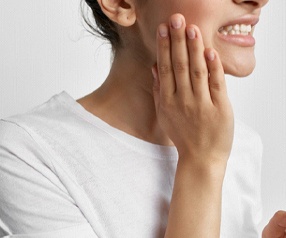
POLYGON ((221 14, 218 14, 218 8, 221 8, 219 4, 211 4, 209 0, 147 1, 147 4, 138 12, 137 19, 139 32, 142 36, 142 44, 139 48, 144 49, 144 52, 141 52, 142 55, 148 52, 152 61, 156 60, 157 27, 161 23, 168 23, 169 17, 178 12, 184 15, 187 25, 195 24, 200 28, 205 46, 213 47, 213 36, 218 30, 217 21, 221 17, 221 14))

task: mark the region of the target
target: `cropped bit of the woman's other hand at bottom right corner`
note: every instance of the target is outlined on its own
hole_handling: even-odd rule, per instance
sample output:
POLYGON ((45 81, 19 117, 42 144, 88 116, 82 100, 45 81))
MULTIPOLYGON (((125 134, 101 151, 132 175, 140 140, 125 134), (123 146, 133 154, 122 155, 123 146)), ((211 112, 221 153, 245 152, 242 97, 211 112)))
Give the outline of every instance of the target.
POLYGON ((263 230, 263 238, 283 238, 286 229, 286 212, 278 211, 270 219, 269 223, 263 230))

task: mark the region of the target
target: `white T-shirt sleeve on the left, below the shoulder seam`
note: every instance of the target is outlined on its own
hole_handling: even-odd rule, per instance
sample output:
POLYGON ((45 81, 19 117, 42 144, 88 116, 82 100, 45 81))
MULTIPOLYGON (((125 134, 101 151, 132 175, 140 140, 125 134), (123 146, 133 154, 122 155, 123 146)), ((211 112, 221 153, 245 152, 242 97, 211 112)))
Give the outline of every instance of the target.
POLYGON ((0 237, 97 237, 44 150, 0 120, 0 237))

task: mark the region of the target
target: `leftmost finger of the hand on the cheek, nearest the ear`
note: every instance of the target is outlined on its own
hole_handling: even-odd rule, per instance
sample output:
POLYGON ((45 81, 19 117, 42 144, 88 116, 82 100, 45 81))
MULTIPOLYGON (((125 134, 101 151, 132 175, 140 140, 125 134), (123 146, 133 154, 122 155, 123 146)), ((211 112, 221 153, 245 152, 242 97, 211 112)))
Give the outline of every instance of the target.
POLYGON ((161 24, 158 27, 157 34, 157 69, 160 80, 160 93, 165 96, 173 95, 176 90, 170 46, 168 26, 161 24))

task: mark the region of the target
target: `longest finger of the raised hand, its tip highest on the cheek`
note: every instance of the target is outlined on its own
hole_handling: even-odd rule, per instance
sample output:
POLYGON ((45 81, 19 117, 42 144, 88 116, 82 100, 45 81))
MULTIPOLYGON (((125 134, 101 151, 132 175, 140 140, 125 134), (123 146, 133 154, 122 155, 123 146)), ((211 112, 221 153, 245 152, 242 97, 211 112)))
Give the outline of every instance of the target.
POLYGON ((191 82, 189 74, 189 55, 186 44, 186 23, 181 14, 170 18, 171 55, 175 75, 176 90, 179 93, 190 94, 191 82))

